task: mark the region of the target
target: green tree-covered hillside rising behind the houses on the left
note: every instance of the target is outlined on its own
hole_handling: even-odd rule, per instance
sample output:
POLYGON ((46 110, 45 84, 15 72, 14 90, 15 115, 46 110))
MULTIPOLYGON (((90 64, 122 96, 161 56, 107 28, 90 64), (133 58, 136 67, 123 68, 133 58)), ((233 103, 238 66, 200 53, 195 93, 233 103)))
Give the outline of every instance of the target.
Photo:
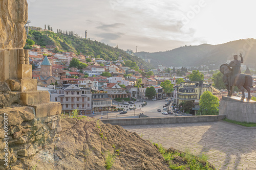
POLYGON ((112 61, 116 61, 118 56, 121 55, 123 60, 135 61, 138 66, 142 64, 145 69, 153 67, 144 60, 129 55, 119 48, 112 47, 96 40, 92 41, 90 39, 80 38, 77 35, 54 33, 52 31, 30 30, 27 38, 32 39, 35 41, 35 44, 41 46, 57 45, 61 51, 71 51, 76 54, 80 54, 81 52, 83 55, 112 61))

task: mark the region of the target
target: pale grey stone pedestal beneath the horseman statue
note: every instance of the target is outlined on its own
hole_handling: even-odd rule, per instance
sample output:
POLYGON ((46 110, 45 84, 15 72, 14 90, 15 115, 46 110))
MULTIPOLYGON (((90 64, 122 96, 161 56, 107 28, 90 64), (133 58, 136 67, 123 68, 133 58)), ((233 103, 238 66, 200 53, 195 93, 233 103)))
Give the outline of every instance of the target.
POLYGON ((256 101, 240 100, 237 96, 222 96, 219 115, 226 115, 227 119, 237 122, 256 123, 256 101))

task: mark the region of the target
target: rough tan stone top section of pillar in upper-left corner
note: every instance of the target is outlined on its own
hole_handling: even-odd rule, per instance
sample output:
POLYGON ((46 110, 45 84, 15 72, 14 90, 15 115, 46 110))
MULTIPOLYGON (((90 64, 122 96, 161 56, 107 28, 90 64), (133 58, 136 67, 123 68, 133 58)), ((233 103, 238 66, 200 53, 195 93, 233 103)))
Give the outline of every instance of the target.
POLYGON ((26 43, 24 25, 27 20, 28 4, 26 0, 0 1, 0 50, 24 47, 26 43))

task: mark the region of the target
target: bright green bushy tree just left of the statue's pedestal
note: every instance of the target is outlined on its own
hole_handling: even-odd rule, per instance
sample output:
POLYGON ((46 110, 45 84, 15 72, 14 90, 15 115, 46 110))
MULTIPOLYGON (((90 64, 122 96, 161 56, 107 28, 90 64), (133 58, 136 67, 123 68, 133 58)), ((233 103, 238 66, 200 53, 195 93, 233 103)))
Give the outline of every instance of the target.
POLYGON ((212 95, 209 91, 205 91, 201 96, 199 100, 199 112, 198 114, 202 115, 215 115, 219 114, 219 99, 212 95))

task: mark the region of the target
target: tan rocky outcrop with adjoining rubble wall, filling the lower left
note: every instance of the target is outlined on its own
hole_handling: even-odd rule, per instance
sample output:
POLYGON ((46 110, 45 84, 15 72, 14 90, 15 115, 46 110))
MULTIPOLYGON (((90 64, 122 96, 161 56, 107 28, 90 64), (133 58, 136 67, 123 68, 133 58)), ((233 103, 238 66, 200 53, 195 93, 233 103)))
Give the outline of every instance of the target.
MULTIPOLYGON (((8 113, 7 169, 169 169, 156 147, 120 126, 99 119, 34 118, 31 107, 0 109, 0 127, 8 113)), ((4 131, 1 129, 3 140, 4 131)), ((5 143, 0 144, 0 157, 5 143)), ((0 160, 0 169, 5 169, 0 160)))

